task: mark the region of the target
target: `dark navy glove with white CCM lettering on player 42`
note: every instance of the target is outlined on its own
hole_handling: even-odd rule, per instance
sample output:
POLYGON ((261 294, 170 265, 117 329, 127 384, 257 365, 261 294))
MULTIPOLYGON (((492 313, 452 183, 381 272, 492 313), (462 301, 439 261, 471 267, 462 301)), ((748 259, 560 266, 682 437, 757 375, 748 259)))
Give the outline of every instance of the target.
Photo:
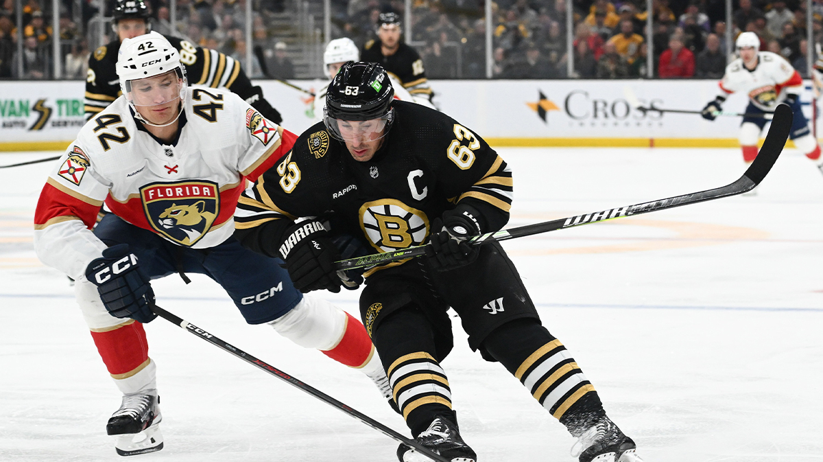
POLYGON ((128 251, 128 244, 103 250, 103 256, 91 260, 86 267, 86 279, 97 286, 109 315, 144 324, 157 317, 151 311, 155 296, 149 278, 137 264, 137 257, 128 251))

